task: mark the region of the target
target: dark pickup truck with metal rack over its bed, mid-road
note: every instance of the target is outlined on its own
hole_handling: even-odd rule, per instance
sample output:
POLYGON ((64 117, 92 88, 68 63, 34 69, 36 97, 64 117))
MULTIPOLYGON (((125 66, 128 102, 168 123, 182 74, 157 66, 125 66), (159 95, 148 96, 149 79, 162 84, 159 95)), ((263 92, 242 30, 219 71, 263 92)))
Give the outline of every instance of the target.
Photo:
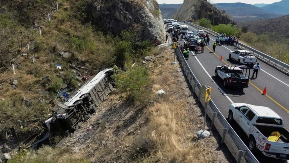
POLYGON ((250 68, 245 65, 216 66, 215 76, 223 80, 224 87, 234 86, 237 88, 248 88, 250 68), (245 75, 244 70, 246 70, 245 75))

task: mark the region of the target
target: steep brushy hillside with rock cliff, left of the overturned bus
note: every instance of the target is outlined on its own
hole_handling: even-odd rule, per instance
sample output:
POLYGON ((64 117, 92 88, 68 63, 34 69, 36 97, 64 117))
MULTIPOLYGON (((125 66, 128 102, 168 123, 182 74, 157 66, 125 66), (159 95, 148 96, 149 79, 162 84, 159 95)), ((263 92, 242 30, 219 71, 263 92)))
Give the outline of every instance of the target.
POLYGON ((0 140, 41 132, 54 104, 65 101, 59 91, 71 95, 82 77, 125 67, 155 38, 165 41, 155 0, 57 2, 59 11, 54 0, 0 1, 0 140))

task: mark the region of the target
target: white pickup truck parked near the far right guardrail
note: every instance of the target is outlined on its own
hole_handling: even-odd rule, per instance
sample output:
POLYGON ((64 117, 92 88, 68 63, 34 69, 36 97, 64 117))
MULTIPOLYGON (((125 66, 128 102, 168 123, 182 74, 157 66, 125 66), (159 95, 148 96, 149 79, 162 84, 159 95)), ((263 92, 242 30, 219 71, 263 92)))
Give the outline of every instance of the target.
POLYGON ((251 52, 247 50, 235 50, 230 51, 229 54, 230 60, 235 60, 238 64, 250 64, 253 65, 257 62, 257 58, 251 54, 251 52))

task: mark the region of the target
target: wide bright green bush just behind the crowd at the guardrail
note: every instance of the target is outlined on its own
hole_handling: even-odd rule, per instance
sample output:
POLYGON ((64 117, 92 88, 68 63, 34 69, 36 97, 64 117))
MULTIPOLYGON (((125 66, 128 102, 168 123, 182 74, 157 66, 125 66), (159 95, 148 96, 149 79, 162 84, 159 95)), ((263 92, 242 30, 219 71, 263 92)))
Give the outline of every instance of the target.
POLYGON ((213 31, 220 34, 226 34, 227 36, 234 35, 239 36, 241 34, 241 28, 232 24, 218 24, 213 26, 213 31))

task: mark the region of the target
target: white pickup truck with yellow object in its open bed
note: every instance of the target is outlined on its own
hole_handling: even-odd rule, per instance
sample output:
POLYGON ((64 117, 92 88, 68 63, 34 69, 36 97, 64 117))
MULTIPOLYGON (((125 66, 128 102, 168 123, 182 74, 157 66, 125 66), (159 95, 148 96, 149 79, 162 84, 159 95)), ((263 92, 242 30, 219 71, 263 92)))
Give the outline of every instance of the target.
POLYGON ((283 119, 269 107, 231 104, 228 121, 237 122, 249 138, 249 149, 263 155, 288 160, 289 132, 283 119))

